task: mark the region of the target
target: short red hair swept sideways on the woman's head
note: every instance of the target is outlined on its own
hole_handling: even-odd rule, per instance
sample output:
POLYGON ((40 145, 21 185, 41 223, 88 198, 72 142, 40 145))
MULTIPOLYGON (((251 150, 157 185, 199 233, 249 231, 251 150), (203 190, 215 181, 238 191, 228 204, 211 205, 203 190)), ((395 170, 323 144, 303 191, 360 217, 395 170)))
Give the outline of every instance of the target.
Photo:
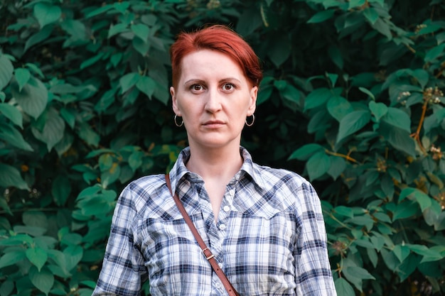
POLYGON ((216 50, 228 55, 244 71, 253 86, 262 80, 262 70, 254 51, 240 35, 222 25, 213 25, 193 33, 181 33, 171 45, 170 57, 173 87, 181 77, 183 57, 198 50, 216 50))

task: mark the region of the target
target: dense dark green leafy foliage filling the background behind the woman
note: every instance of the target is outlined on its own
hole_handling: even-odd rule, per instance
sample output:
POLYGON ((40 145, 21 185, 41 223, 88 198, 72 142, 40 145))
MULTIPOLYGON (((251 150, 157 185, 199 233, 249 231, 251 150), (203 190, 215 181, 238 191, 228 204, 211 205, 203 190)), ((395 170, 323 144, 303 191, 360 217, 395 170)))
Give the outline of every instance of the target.
POLYGON ((0 296, 90 295, 117 195, 186 146, 168 47, 205 23, 264 64, 242 144, 320 193, 338 295, 444 292, 444 16, 439 0, 2 1, 0 296))

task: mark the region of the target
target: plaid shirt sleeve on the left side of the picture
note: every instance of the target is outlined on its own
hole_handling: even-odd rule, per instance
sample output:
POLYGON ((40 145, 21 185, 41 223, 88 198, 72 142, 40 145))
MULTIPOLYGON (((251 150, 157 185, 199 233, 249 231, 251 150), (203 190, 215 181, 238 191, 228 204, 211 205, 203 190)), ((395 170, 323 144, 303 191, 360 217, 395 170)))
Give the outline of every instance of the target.
POLYGON ((140 295, 147 278, 144 258, 134 244, 138 215, 132 184, 120 195, 114 209, 102 270, 92 293, 98 295, 140 295))

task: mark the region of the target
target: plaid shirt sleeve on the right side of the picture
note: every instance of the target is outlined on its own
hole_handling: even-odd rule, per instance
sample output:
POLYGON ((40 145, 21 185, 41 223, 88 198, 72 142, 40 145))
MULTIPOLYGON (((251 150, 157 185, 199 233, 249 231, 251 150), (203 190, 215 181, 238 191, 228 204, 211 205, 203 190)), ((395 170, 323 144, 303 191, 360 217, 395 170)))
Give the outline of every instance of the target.
POLYGON ((321 202, 309 182, 297 190, 299 238, 295 251, 296 295, 336 296, 321 202))

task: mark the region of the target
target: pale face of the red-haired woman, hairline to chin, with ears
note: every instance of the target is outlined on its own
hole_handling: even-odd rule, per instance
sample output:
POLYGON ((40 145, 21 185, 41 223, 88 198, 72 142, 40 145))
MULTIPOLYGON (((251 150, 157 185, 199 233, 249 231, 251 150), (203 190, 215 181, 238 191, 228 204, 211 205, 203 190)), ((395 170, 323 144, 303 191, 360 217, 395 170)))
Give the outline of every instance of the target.
POLYGON ((240 145, 245 119, 255 111, 258 88, 227 55, 199 50, 183 57, 181 77, 170 92, 190 146, 221 148, 240 145))

